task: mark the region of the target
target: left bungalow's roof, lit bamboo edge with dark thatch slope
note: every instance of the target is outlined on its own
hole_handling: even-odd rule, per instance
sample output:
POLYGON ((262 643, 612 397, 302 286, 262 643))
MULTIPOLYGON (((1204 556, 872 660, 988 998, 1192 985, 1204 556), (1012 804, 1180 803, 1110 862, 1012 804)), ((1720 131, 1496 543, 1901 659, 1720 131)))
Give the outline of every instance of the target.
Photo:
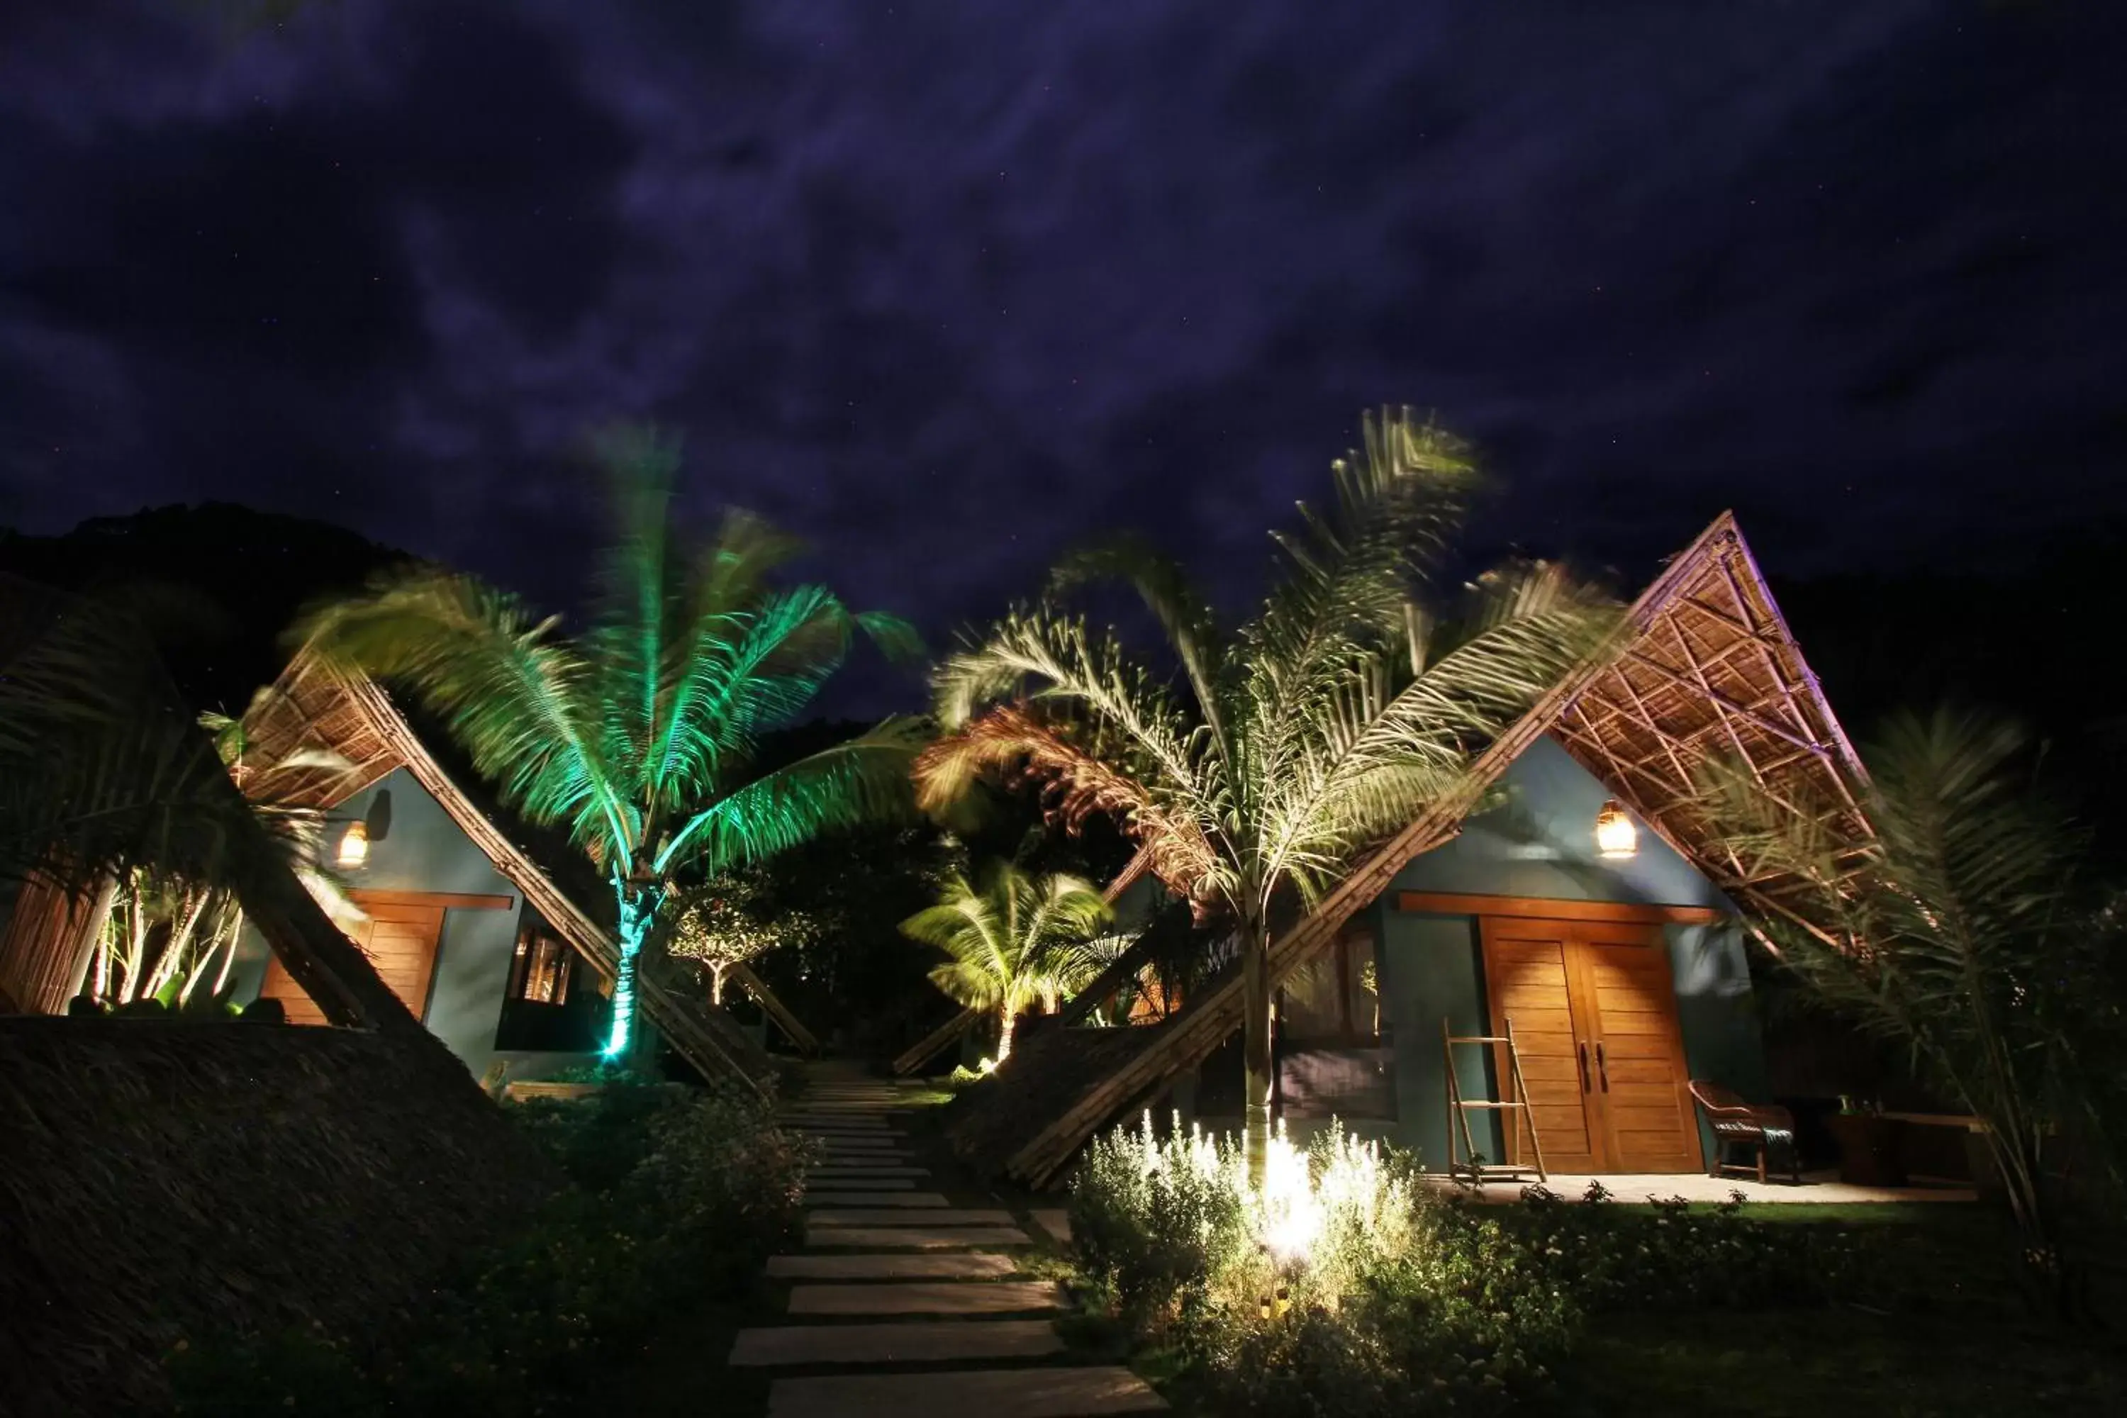
MULTIPOLYGON (((583 959, 606 978, 619 969, 606 927, 610 891, 583 855, 562 833, 508 812, 457 759, 449 738, 425 727, 376 680, 300 651, 245 716, 245 729, 238 763, 245 791, 298 806, 336 808, 404 767, 583 959), (347 767, 304 765, 296 757, 304 748, 330 748, 347 767)), ((644 969, 638 995, 642 1012, 704 1078, 732 1074, 755 1086, 772 1078, 772 1063, 751 1037, 725 1027, 676 972, 644 969)))

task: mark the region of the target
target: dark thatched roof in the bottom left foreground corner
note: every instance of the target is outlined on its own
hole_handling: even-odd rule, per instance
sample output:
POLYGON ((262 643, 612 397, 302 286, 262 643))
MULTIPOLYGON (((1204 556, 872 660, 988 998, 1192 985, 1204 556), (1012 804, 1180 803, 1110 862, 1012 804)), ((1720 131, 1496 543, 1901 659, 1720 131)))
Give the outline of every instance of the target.
POLYGON ((0 1412, 157 1409, 181 1337, 370 1324, 551 1184, 425 1040, 0 1020, 0 1412))

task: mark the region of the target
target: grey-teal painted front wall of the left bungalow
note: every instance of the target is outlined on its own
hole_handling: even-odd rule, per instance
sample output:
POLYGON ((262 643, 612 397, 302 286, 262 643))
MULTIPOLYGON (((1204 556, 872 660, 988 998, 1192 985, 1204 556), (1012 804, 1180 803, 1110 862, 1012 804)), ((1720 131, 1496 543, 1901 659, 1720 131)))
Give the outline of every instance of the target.
MULTIPOLYGON (((436 950, 436 972, 430 980, 421 1020, 453 1054, 466 1061, 474 1078, 498 1059, 506 1059, 510 1078, 545 1078, 591 1054, 498 1052, 496 1025, 502 1018, 502 997, 510 980, 510 955, 517 948, 517 918, 523 899, 487 855, 457 829, 428 791, 404 767, 396 770, 366 793, 332 810, 328 853, 338 846, 345 823, 366 816, 376 793, 391 793, 391 827, 381 842, 370 842, 364 867, 342 872, 349 889, 362 891, 451 891, 468 895, 506 895, 510 910, 449 910, 442 916, 442 944, 436 950)), ((238 999, 255 999, 266 976, 266 942, 247 929, 238 955, 238 999)))

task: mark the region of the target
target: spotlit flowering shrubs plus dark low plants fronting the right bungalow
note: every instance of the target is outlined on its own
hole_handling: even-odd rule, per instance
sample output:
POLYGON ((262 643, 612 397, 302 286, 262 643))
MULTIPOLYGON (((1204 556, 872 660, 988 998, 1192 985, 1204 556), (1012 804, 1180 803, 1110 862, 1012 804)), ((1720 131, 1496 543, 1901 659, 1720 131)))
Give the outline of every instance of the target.
POLYGON ((1472 1205, 1336 1127, 1278 1137, 1253 1188, 1236 1142, 1146 1118, 1095 1140, 1070 1218, 1095 1297, 1206 1412, 1255 1418, 1506 1412, 1591 1312, 1825 1303, 1868 1276, 1848 1231, 1606 1201, 1472 1205))

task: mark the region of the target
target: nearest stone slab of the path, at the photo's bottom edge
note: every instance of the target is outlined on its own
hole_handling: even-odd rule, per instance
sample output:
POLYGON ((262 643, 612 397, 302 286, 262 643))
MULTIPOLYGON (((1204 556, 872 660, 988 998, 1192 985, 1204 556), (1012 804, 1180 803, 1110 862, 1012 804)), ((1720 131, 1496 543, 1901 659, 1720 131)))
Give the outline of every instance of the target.
POLYGON ((778 1378, 768 1388, 768 1418, 1106 1418, 1153 1414, 1166 1399, 1123 1367, 989 1369, 978 1373, 861 1373, 778 1378))

